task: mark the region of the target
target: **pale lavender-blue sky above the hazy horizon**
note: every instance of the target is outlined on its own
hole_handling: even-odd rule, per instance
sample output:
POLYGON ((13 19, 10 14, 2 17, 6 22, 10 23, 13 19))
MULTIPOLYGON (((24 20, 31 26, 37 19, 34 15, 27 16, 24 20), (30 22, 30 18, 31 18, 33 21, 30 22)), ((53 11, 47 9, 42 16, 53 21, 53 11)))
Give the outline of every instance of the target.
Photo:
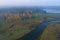
POLYGON ((60 6, 60 0, 0 0, 0 6, 60 6))

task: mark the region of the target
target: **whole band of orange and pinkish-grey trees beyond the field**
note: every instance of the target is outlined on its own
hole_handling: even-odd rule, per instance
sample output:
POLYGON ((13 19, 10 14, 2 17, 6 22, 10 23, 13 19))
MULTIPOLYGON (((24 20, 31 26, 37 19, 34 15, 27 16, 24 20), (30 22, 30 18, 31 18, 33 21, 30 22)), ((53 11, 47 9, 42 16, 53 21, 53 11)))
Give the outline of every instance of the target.
POLYGON ((17 13, 15 15, 9 15, 7 16, 6 20, 7 22, 13 22, 13 21, 21 21, 24 18, 32 18, 32 11, 26 11, 23 13, 17 13))

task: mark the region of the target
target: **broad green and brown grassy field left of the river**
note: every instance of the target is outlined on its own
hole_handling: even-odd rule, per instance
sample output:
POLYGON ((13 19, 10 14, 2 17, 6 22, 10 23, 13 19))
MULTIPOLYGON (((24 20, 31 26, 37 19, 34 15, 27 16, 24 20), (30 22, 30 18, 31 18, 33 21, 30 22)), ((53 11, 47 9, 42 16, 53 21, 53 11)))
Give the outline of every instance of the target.
POLYGON ((0 40, 16 40, 34 30, 43 19, 40 16, 34 16, 21 21, 8 23, 6 20, 0 22, 0 40))

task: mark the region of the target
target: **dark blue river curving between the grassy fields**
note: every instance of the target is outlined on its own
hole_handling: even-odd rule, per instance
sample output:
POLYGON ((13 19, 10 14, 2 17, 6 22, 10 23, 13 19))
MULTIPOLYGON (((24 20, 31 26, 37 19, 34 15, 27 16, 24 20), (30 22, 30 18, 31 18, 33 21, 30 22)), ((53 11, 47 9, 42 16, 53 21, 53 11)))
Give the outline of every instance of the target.
POLYGON ((54 23, 60 23, 60 20, 50 20, 50 21, 45 21, 41 25, 38 26, 35 30, 31 31, 30 33, 26 34, 25 36, 17 39, 17 40, 36 40, 38 36, 41 36, 45 28, 54 23))

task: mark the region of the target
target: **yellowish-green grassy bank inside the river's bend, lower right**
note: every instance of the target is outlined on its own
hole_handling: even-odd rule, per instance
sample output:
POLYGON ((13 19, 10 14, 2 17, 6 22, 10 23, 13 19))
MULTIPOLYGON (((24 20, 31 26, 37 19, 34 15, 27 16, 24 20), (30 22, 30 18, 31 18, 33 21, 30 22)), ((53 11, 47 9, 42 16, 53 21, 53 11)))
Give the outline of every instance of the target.
POLYGON ((60 39, 60 24, 51 24, 38 38, 38 40, 59 40, 60 39))

